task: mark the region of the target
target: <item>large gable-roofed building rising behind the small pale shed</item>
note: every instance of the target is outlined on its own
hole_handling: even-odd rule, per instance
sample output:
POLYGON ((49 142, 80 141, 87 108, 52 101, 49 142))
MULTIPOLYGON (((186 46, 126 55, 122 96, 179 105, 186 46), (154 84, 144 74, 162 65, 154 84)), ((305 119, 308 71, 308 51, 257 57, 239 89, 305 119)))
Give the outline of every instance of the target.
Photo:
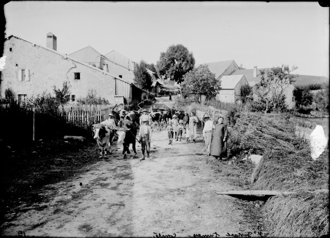
POLYGON ((216 74, 216 79, 220 80, 222 76, 230 75, 235 70, 239 70, 234 60, 218 61, 205 63, 208 65, 210 71, 216 74))

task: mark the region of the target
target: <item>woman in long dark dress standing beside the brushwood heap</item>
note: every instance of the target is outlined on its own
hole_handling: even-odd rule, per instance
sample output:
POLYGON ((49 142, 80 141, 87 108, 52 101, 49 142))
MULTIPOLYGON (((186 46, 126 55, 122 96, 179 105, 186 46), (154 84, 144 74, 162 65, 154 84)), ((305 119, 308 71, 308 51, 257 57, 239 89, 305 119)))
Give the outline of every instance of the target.
POLYGON ((216 128, 212 132, 211 155, 218 158, 227 158, 227 125, 219 117, 216 128))

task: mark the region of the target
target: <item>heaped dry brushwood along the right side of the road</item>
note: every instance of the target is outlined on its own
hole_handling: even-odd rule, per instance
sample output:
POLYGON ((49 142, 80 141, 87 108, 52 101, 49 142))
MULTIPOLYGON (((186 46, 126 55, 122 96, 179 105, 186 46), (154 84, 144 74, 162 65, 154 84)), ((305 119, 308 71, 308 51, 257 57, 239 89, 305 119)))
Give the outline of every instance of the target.
POLYGON ((236 112, 229 125, 228 150, 262 155, 250 189, 291 191, 261 208, 264 229, 274 237, 321 237, 329 233, 329 150, 317 159, 295 135, 295 122, 284 114, 236 112))

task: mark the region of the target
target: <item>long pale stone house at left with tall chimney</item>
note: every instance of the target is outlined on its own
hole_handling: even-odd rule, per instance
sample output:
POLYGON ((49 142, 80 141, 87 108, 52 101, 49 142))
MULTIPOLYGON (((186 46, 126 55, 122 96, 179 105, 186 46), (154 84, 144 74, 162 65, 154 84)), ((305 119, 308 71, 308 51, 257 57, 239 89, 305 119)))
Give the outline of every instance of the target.
MULTIPOLYGON (((53 87, 62 88, 63 82, 71 85, 71 101, 85 97, 93 89, 110 103, 130 103, 141 100, 144 90, 132 82, 112 75, 108 69, 100 69, 57 52, 57 38, 46 36, 46 46, 39 46, 19 37, 5 38, 3 56, 5 65, 1 71, 0 95, 11 89, 22 102, 31 96, 53 94, 53 87)), ((91 52, 93 49, 89 48, 91 52)))

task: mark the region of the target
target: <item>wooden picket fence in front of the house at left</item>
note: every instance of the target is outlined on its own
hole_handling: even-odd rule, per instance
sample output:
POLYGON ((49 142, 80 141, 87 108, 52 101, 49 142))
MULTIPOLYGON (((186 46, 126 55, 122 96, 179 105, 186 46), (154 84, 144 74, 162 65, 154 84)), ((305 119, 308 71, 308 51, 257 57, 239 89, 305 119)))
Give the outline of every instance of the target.
POLYGON ((59 114, 68 122, 100 123, 108 119, 112 112, 111 105, 72 105, 59 108, 59 114))

